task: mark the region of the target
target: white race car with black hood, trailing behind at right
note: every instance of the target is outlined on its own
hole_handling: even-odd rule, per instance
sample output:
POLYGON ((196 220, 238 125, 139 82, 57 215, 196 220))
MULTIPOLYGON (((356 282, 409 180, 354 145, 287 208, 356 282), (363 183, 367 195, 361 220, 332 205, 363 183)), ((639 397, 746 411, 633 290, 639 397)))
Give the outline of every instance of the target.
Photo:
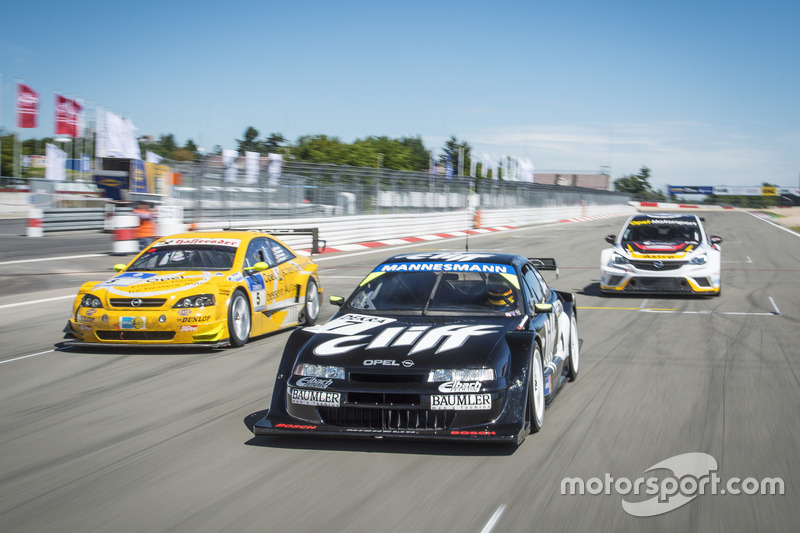
POLYGON ((697 215, 637 214, 600 254, 607 294, 719 295, 722 237, 709 237, 697 215))

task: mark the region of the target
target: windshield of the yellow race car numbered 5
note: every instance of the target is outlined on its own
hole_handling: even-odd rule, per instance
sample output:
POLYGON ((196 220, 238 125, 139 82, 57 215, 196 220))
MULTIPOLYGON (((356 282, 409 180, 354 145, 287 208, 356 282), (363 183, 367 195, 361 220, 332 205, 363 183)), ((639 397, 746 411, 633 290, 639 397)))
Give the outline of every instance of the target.
POLYGON ((159 246, 149 248, 127 269, 146 270, 230 270, 236 248, 232 246, 159 246))

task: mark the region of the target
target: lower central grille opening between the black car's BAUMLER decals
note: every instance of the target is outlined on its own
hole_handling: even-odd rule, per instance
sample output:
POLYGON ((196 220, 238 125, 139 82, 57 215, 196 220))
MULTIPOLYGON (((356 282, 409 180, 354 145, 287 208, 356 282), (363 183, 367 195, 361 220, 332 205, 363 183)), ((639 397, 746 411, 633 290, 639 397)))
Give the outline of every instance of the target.
POLYGON ((423 409, 369 409, 361 407, 322 407, 322 422, 331 426, 367 430, 441 430, 455 420, 452 411, 423 409))

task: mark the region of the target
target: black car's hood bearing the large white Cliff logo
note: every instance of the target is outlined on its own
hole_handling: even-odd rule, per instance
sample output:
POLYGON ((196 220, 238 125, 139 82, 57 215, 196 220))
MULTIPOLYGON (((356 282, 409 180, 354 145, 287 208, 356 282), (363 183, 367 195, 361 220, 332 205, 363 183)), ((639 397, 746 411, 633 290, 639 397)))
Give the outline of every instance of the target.
POLYGON ((483 365, 522 317, 375 316, 343 314, 305 328, 298 362, 335 366, 449 368, 483 365), (365 363, 365 361, 367 361, 365 363), (395 365, 376 364, 394 361, 395 365))

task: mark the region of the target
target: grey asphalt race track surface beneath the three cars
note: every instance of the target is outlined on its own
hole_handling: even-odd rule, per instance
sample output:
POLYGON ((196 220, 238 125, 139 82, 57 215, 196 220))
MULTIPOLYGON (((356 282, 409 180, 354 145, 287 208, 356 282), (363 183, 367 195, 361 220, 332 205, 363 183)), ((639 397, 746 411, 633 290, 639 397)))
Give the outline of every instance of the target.
MULTIPOLYGON (((10 257, 2 236, 0 531, 797 531, 800 238, 746 213, 706 220, 725 239, 718 298, 601 296, 603 237, 622 218, 470 237, 472 251, 556 257, 550 281, 578 294, 580 375, 519 448, 256 439, 288 332, 219 351, 53 351, 78 285, 119 258, 85 235, 10 257), (19 262, 75 249, 89 257, 19 262), (623 500, 650 496, 613 482, 561 493, 567 477, 666 483, 672 471, 647 470, 691 452, 723 483, 778 477, 785 494, 687 485, 688 503, 634 517, 623 500)), ((401 249, 464 244, 319 256, 325 300, 401 249)))

